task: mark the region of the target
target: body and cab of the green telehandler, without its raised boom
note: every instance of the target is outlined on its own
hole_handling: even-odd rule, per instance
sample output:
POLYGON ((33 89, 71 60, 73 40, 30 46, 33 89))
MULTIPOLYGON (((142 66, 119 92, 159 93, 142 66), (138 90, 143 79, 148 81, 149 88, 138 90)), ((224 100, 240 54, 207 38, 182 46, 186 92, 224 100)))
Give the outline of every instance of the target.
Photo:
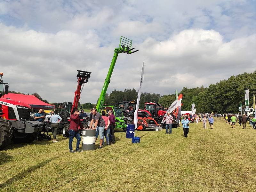
POLYGON ((123 129, 123 131, 125 132, 126 131, 126 124, 125 123, 127 121, 126 120, 127 117, 124 116, 124 114, 122 112, 122 108, 119 107, 119 106, 107 105, 107 106, 103 106, 101 111, 105 111, 106 114, 108 114, 109 110, 113 110, 113 113, 116 117, 116 127, 115 128, 123 129))

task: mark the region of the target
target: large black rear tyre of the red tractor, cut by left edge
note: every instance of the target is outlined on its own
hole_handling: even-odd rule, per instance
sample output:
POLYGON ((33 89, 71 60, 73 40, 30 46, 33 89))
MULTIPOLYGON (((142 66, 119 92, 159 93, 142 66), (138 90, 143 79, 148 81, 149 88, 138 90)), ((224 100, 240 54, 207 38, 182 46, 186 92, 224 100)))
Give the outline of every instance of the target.
POLYGON ((12 126, 5 119, 0 118, 0 150, 5 148, 11 141, 12 126))

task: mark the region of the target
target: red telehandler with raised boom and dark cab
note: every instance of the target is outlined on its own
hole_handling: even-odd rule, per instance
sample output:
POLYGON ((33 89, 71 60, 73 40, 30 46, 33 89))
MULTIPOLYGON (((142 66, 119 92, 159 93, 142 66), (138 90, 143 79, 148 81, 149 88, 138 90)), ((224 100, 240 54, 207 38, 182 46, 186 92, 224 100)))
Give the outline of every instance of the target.
MULTIPOLYGON (((75 97, 73 103, 65 102, 58 104, 58 113, 62 118, 60 122, 60 132, 64 137, 69 137, 69 125, 70 125, 70 115, 73 114, 78 106, 78 101, 80 99, 81 92, 83 90, 84 84, 88 82, 92 72, 77 70, 77 87, 75 91, 75 97)), ((86 119, 81 119, 84 127, 87 126, 87 122, 90 120, 89 117, 86 119)), ((49 125, 48 125, 49 126, 49 125)), ((82 128, 82 127, 81 127, 82 128)))

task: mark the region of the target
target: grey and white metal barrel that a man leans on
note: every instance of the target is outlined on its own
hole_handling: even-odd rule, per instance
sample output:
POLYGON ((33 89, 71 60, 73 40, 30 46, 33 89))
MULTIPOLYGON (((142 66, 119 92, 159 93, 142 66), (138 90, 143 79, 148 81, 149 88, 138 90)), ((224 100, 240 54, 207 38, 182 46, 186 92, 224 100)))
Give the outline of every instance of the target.
POLYGON ((82 135, 82 149, 83 150, 95 150, 95 129, 84 129, 82 135))

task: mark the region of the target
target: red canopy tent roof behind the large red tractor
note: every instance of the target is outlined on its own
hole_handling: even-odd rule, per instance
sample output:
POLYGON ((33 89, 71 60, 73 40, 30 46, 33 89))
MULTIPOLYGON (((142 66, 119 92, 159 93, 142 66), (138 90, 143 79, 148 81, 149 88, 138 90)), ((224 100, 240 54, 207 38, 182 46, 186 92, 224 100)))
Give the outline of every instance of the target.
POLYGON ((43 109, 53 109, 55 108, 54 105, 45 103, 36 98, 34 95, 23 95, 23 94, 16 94, 16 93, 8 93, 8 95, 3 95, 1 98, 11 99, 15 101, 20 101, 23 103, 27 103, 32 108, 43 108, 43 109))

